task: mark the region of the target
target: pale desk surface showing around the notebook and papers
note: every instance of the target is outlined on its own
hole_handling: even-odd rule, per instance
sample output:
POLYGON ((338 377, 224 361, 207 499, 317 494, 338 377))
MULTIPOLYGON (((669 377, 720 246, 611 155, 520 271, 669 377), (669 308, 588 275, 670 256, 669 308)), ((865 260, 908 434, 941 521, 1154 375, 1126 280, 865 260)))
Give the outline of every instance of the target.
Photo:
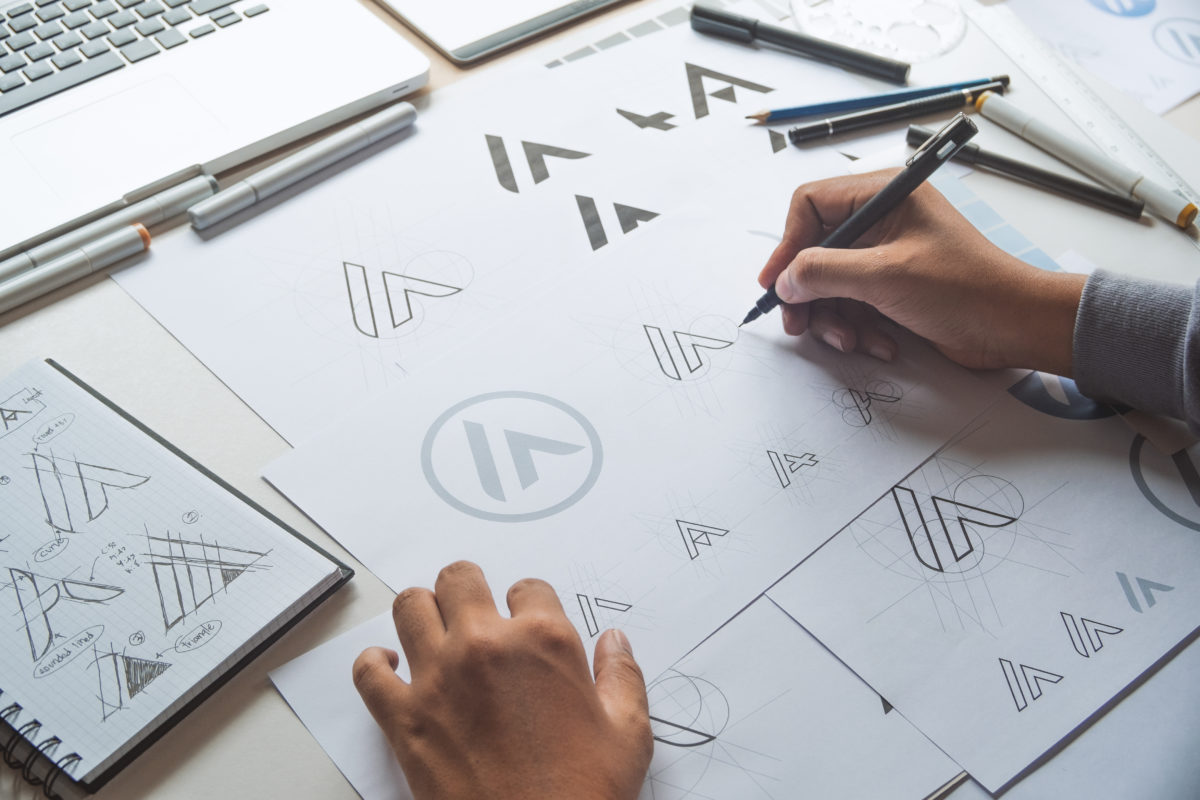
MULTIPOLYGON (((601 25, 632 4, 581 23, 601 25)), ((518 49, 461 70, 382 11, 432 62, 430 88, 522 58, 518 49)), ((566 36, 578 26, 545 37, 566 36)), ((1200 97, 1165 119, 1200 139, 1200 97)), ((84 380, 305 535, 355 564, 359 575, 308 620, 167 734, 100 798, 356 798, 272 688, 268 673, 389 607, 391 591, 259 479, 287 445, 114 282, 91 278, 0 318, 0 371, 54 356, 84 380)), ((431 579, 433 576, 430 576, 431 579)), ((349 675, 334 675, 349 680, 349 675)), ((0 771, 0 800, 41 796, 0 771)))

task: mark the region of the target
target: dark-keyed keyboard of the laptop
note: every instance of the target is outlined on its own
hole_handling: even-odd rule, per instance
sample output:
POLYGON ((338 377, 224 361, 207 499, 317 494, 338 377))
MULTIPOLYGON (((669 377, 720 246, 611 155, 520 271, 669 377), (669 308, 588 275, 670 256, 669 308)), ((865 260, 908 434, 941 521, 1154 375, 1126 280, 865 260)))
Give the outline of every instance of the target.
POLYGON ((32 0, 0 7, 0 116, 265 11, 240 0, 32 0))

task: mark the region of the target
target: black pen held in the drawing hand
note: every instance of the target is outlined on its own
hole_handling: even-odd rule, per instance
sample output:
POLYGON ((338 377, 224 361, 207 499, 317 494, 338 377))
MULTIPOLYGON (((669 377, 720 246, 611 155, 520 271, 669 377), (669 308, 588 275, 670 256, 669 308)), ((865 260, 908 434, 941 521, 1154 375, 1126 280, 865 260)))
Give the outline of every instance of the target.
MULTIPOLYGON (((850 215, 844 223, 826 236, 818 247, 850 247, 853 245, 859 236, 900 205, 906 197, 912 194, 913 190, 924 184, 938 167, 949 161, 978 132, 979 128, 976 127, 976 124, 967 119, 966 114, 959 112, 946 127, 930 137, 917 152, 912 154, 899 175, 888 181, 888 185, 881 188, 878 194, 864 203, 863 207, 850 215)), ((758 319, 779 302, 775 284, 772 283, 767 293, 758 297, 754 308, 742 320, 742 325, 758 319)))

